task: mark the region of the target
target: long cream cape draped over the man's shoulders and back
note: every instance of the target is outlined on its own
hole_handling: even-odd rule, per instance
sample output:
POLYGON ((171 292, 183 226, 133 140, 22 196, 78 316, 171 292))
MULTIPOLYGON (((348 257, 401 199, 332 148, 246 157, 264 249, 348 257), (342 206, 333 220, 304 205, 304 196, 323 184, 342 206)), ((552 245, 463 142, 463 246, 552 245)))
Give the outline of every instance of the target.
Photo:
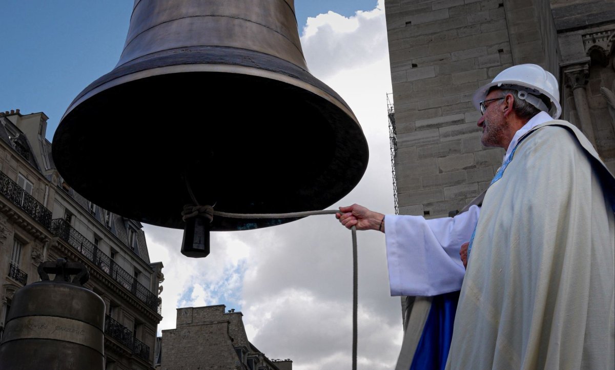
POLYGON ((480 210, 447 369, 615 368, 614 193, 568 122, 520 141, 480 210))

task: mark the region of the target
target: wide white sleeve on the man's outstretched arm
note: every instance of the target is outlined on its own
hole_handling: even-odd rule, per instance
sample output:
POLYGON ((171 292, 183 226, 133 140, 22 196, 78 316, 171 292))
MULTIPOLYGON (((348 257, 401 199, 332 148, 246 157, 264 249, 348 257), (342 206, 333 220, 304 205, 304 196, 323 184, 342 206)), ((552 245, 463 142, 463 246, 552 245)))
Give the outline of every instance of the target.
POLYGON ((391 296, 435 296, 461 289, 466 269, 459 257, 480 208, 453 218, 386 215, 386 254, 391 296))

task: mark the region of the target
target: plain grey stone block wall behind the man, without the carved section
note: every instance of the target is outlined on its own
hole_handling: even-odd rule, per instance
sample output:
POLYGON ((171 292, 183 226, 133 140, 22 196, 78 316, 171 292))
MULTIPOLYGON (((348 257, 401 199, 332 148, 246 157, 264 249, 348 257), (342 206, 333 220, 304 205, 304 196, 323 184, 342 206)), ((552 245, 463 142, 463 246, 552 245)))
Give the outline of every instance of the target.
POLYGON ((472 94, 512 63, 553 66, 545 55, 553 49, 552 20, 542 19, 541 0, 385 0, 384 6, 400 212, 447 216, 486 189, 504 155, 480 144, 472 94))

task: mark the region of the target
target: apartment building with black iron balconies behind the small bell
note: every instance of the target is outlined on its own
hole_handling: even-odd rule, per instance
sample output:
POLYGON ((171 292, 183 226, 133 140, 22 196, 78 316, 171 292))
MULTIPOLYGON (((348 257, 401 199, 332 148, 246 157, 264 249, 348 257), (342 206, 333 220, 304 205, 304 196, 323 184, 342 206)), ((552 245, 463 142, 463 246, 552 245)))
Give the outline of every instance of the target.
POLYGON ((15 291, 39 281, 38 265, 66 258, 87 266, 85 286, 105 302, 106 370, 151 369, 162 263, 149 261, 140 222, 98 207, 63 181, 46 126, 42 112, 0 112, 0 329, 15 291))

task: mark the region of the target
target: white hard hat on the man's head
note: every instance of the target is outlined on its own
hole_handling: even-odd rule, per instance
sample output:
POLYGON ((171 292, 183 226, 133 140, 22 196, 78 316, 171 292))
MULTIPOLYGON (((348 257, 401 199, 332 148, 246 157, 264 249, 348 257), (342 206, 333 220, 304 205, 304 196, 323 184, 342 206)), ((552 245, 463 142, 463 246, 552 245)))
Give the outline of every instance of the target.
POLYGON ((561 114, 560 90, 555 77, 537 65, 512 66, 501 71, 490 84, 480 87, 472 96, 474 108, 480 110, 478 103, 485 100, 491 87, 517 90, 517 97, 527 101, 541 111, 548 112, 558 119, 561 114), (547 106, 540 98, 545 95, 551 101, 547 106))

